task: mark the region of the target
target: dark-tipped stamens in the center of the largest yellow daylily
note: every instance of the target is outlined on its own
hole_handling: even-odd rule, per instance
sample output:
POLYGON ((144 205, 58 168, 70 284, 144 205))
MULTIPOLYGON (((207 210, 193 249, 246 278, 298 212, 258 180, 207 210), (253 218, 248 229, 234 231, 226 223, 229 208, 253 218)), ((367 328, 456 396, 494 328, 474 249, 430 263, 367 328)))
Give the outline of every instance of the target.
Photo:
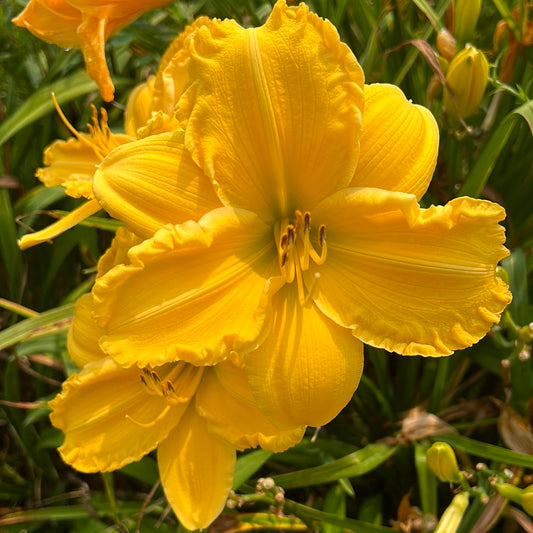
POLYGON ((326 261, 328 247, 326 243, 326 226, 318 226, 318 253, 310 239, 311 233, 311 213, 306 211, 296 211, 294 221, 283 219, 275 227, 276 244, 278 248, 279 269, 282 277, 287 283, 292 283, 296 279, 298 286, 298 300, 301 305, 307 305, 316 287, 320 274, 317 272, 312 284, 308 287, 306 294, 302 272, 309 270, 309 263, 312 260, 317 265, 322 265, 326 261))

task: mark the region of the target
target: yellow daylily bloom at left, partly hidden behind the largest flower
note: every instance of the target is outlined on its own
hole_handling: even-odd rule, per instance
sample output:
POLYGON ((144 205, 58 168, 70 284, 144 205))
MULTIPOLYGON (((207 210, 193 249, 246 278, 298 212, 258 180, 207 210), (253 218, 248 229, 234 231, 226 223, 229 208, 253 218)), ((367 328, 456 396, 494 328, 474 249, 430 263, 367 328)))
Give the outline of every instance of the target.
MULTIPOLYGON (((173 116, 173 108, 188 79, 187 63, 190 55, 183 43, 204 20, 208 19, 200 17, 185 28, 163 55, 156 76, 150 76, 145 83, 133 89, 124 113, 125 135, 111 132, 107 125, 105 109, 101 110, 99 123, 94 108, 92 125, 88 125, 89 134, 79 133, 56 105, 63 123, 74 137, 67 141, 54 141, 45 149, 45 166, 37 171, 36 176, 47 187, 62 185, 69 196, 85 197, 89 201, 43 230, 24 235, 19 241, 21 249, 51 240, 101 209, 98 201, 94 199, 92 180, 96 167, 113 148, 137 137, 179 128, 173 116)), ((166 222, 178 223, 187 220, 179 216, 179 211, 176 211, 176 214, 177 218, 170 215, 166 222)))

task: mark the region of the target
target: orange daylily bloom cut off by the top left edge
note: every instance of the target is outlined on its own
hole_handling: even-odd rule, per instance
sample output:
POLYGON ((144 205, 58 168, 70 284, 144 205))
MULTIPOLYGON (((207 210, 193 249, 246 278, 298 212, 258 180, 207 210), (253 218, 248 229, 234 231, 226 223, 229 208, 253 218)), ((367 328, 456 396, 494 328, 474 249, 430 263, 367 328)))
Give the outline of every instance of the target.
POLYGON ((146 11, 172 0, 30 0, 13 22, 39 39, 65 48, 81 48, 87 75, 102 98, 113 100, 115 88, 105 59, 105 43, 146 11))

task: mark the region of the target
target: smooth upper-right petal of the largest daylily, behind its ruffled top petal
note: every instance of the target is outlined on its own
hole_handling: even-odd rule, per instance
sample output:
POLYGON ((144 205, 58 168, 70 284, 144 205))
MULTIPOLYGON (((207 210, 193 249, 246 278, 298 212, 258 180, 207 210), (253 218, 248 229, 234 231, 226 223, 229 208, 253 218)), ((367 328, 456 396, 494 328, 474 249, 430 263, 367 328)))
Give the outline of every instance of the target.
POLYGON ((437 163, 439 128, 431 112, 387 84, 365 85, 361 153, 351 187, 426 192, 437 163))

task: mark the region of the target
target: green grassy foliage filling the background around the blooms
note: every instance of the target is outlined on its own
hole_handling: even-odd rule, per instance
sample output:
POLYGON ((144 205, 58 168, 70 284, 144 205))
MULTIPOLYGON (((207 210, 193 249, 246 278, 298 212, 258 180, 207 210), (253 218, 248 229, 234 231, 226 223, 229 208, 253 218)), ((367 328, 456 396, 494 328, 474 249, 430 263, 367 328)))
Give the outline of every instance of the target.
MULTIPOLYGON (((489 59, 490 81, 479 111, 461 124, 443 110, 430 64, 436 33, 450 21, 449 0, 307 3, 337 26, 367 82, 398 84, 437 117, 439 161, 423 203, 468 194, 505 206, 512 253, 503 266, 514 300, 486 339, 447 359, 367 348, 361 385, 335 420, 316 433, 310 429, 285 453, 241 455, 236 495, 213 530, 432 531, 456 488, 437 481, 426 465, 425 451, 441 440, 454 447, 467 472, 463 489, 470 503, 458 531, 484 532, 493 525, 497 531, 533 531, 524 509, 494 488, 503 481, 533 484, 529 6, 525 0, 483 1, 472 42, 489 59), (496 51, 493 34, 502 20, 510 29, 496 51), (516 61, 502 81, 501 64, 512 47, 516 61), (257 491, 256 480, 265 476, 276 485, 257 491), (276 498, 279 487, 284 500, 276 498)), ((90 289, 112 231, 105 220, 90 219, 53 244, 23 253, 17 247, 28 227, 39 229, 77 203, 34 177, 45 146, 68 136, 50 92, 80 130, 90 119, 89 104, 102 105, 78 50, 46 45, 11 24, 24 4, 0 5, 0 530, 176 531, 152 457, 113 474, 83 475, 56 452, 62 437, 50 426, 46 402, 74 370, 65 349, 72 303, 90 289)), ((113 36, 107 53, 116 102, 106 104, 112 129, 122 128, 131 88, 155 72, 168 43, 196 16, 258 25, 270 8, 261 0, 177 1, 113 36)))

